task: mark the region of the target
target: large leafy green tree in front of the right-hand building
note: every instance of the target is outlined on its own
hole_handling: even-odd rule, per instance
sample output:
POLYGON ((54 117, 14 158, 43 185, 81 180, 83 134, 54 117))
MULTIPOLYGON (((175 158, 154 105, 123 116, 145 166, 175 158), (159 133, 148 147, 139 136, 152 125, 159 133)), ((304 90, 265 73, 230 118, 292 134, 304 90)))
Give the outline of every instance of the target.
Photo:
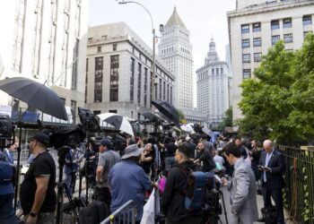
POLYGON ((286 51, 279 41, 254 74, 256 79, 240 85, 240 133, 290 145, 314 138, 313 34, 295 52, 286 51))

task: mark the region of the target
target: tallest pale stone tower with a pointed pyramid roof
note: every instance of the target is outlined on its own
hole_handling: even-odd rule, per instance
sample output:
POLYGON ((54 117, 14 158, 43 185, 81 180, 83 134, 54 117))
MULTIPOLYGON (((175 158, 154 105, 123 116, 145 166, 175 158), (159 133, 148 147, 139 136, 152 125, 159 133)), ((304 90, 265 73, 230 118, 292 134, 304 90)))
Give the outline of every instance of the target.
POLYGON ((159 57, 176 77, 173 103, 184 112, 193 108, 193 58, 189 31, 179 17, 176 7, 161 31, 159 57))

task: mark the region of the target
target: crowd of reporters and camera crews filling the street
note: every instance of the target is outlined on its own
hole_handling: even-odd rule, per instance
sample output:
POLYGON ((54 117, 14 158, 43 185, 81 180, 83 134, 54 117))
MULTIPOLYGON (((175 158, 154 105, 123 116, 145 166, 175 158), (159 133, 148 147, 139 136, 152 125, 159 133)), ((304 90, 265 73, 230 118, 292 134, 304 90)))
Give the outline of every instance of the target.
MULTIPOLYGON (((56 164, 47 151, 49 137, 36 134, 30 140, 31 166, 20 189, 20 203, 25 223, 55 223, 57 204, 56 164)), ((2 164, 13 164, 9 145, 1 154, 2 164)), ((223 170, 222 185, 231 195, 230 223, 253 223, 258 220, 257 194, 263 194, 264 206, 271 207, 273 198, 277 223, 284 223, 282 188, 284 162, 273 142, 263 145, 256 140, 220 136, 215 142, 206 134, 182 137, 136 137, 126 139, 126 147, 116 151, 112 139, 104 137, 86 147, 83 157, 89 160, 94 199, 105 202, 112 213, 133 200, 136 204, 136 223, 140 223, 147 191, 158 189, 158 177, 166 176, 161 194, 161 212, 167 223, 201 223, 202 211, 189 212, 184 206, 184 190, 188 185, 185 170, 217 172, 223 170), (96 145, 96 147, 95 147, 96 145)), ((65 156, 65 183, 74 194, 78 164, 83 160, 77 151, 65 156)), ((13 166, 10 166, 10 168, 13 166)), ((7 168, 7 167, 6 167, 7 168)), ((8 169, 5 169, 8 170, 8 169)), ((1 169, 0 223, 13 222, 13 182, 7 181, 1 169), (4 177, 5 180, 4 181, 4 177)), ((7 173, 7 172, 6 172, 7 173)), ((12 172, 13 173, 13 172, 12 172)), ((86 175, 86 177, 90 177, 86 175)), ((108 214, 109 215, 109 214, 108 214)))

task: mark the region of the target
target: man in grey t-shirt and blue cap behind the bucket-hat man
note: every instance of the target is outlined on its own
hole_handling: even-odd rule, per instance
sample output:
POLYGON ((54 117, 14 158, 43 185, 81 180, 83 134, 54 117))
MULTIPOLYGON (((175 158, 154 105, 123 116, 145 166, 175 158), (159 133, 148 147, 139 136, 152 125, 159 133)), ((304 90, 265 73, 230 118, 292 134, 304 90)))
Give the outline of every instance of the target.
POLYGON ((111 194, 108 185, 110 169, 120 161, 120 155, 112 150, 112 142, 108 138, 100 141, 100 158, 96 170, 97 200, 105 202, 110 208, 111 194))

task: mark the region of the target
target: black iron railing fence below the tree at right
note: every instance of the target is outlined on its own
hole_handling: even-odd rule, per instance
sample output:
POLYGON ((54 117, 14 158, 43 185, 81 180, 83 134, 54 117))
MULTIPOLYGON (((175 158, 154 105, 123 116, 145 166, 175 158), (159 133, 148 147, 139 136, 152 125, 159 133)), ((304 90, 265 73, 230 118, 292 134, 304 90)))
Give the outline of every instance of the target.
POLYGON ((314 224, 314 150, 279 146, 286 165, 283 204, 290 219, 314 224))

